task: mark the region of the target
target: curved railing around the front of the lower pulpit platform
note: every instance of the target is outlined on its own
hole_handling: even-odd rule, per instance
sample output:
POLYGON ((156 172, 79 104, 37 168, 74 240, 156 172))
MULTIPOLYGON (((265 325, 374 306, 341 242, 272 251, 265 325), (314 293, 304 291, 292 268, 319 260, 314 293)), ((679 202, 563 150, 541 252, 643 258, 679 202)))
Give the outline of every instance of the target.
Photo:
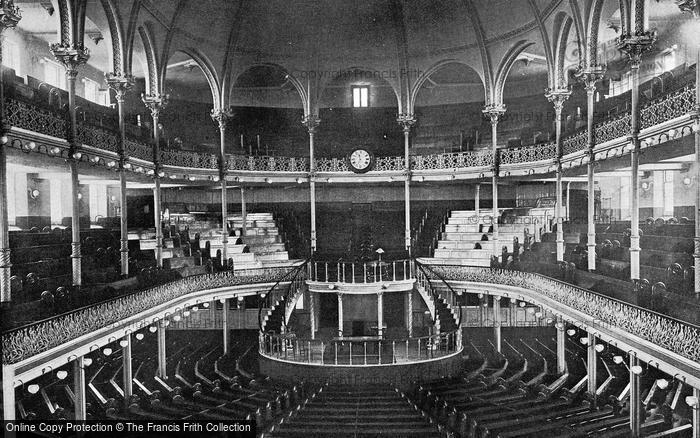
POLYGON ((462 350, 457 331, 404 339, 298 339, 294 334, 260 333, 260 354, 316 365, 390 365, 437 359, 462 350))

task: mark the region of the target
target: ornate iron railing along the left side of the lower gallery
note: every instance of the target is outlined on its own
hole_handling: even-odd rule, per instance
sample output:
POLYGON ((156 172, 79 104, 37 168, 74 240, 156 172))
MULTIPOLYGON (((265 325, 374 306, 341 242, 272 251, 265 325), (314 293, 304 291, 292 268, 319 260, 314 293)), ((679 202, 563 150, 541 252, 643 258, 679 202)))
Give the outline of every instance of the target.
POLYGON ((183 278, 2 334, 2 363, 13 364, 193 292, 271 283, 294 267, 249 269, 183 278))

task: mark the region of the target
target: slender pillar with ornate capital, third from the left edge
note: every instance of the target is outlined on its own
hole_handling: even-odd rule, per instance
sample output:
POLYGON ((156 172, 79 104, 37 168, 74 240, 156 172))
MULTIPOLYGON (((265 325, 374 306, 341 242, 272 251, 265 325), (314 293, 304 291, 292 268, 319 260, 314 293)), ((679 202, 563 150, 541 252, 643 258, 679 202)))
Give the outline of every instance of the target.
POLYGON ((119 254, 121 262, 121 274, 129 276, 129 230, 127 226, 126 208, 126 164, 129 158, 126 155, 126 120, 124 117, 124 96, 134 86, 134 78, 130 75, 107 74, 107 84, 114 90, 119 113, 119 254))

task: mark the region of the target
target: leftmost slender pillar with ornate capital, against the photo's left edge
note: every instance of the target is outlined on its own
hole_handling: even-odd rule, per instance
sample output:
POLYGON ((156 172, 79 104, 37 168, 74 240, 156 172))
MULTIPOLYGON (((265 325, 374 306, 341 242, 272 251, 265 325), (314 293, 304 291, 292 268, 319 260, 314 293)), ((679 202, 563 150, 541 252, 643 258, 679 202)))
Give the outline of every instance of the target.
MULTIPOLYGON (((19 8, 16 8, 12 1, 3 1, 0 8, 0 41, 2 41, 5 29, 17 27, 17 23, 22 19, 19 8)), ((0 65, 2 65, 2 44, 0 44, 0 65)), ((2 67, 0 67, 0 76, 2 75, 2 67)), ((5 110, 5 84, 0 77, 0 114, 4 114, 5 110)), ((10 126, 2 117, 2 126, 0 126, 0 305, 9 303, 11 297, 10 284, 10 235, 9 224, 7 222, 7 156, 5 145, 8 142, 6 137, 10 126)), ((13 393, 14 394, 14 393, 13 393)), ((14 408, 14 406, 13 406, 14 408)))

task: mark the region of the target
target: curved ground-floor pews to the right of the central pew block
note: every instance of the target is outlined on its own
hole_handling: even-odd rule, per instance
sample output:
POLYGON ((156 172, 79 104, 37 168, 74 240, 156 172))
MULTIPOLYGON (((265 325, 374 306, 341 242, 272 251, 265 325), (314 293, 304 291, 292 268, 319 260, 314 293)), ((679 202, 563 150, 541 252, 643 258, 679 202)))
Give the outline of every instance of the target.
MULTIPOLYGON (((557 375, 554 340, 528 336, 527 331, 504 329, 502 354, 483 341, 479 347, 473 345, 476 340, 468 341, 464 372, 452 379, 417 382, 412 398, 461 437, 628 436, 629 371, 614 364, 613 353, 598 355, 598 401, 593 405, 584 397, 586 351, 578 338, 567 341, 568 371, 557 375)), ((643 432, 682 426, 687 420, 675 416, 671 407, 682 384, 661 390, 646 377, 643 432)))

